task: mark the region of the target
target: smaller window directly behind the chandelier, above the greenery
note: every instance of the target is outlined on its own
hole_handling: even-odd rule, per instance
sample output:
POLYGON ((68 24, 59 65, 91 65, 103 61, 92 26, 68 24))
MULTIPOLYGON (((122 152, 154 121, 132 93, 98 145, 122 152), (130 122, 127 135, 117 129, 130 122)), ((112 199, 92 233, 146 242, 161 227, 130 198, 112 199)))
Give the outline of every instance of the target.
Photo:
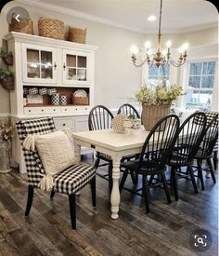
POLYGON ((153 64, 148 67, 148 84, 154 85, 157 80, 165 78, 166 85, 170 85, 170 65, 161 65, 159 68, 153 64))

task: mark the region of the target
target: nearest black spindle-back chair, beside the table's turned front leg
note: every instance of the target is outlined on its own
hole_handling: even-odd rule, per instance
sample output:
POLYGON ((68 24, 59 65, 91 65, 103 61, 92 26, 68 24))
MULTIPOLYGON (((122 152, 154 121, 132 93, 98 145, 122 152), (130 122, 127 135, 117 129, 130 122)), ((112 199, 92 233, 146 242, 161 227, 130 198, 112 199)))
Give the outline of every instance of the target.
MULTIPOLYGON (((120 182, 120 192, 129 173, 136 173, 142 176, 143 195, 146 202, 146 213, 149 212, 148 199, 148 176, 158 175, 158 186, 162 183, 168 203, 171 203, 168 186, 165 178, 166 163, 172 153, 177 131, 179 128, 179 118, 177 115, 163 117, 149 132, 144 142, 139 159, 122 163, 123 175, 120 182)), ((152 184, 153 186, 153 184, 152 184)), ((138 193, 135 193, 140 195, 138 193)))

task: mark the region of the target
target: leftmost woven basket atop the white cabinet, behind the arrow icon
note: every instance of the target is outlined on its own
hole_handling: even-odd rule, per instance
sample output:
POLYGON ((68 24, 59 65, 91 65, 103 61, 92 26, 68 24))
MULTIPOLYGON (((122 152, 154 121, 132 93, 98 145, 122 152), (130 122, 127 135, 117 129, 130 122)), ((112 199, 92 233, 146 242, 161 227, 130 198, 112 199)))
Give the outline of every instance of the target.
POLYGON ((14 18, 12 14, 11 24, 9 24, 9 32, 15 31, 24 34, 33 34, 33 23, 31 19, 19 19, 14 18))

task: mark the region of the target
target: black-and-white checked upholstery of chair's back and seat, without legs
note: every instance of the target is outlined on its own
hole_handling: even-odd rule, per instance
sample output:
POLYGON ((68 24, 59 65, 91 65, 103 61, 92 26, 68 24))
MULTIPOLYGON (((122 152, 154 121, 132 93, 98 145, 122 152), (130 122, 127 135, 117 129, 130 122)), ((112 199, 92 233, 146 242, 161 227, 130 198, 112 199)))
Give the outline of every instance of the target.
MULTIPOLYGON (((28 135, 42 135, 56 131, 52 117, 42 117, 30 120, 20 120, 16 123, 21 145, 28 135)), ((22 147, 26 163, 28 183, 37 187, 45 176, 45 169, 37 151, 22 147)), ((58 193, 72 194, 83 188, 95 176, 96 170, 87 164, 73 165, 54 176, 54 189, 58 193)))

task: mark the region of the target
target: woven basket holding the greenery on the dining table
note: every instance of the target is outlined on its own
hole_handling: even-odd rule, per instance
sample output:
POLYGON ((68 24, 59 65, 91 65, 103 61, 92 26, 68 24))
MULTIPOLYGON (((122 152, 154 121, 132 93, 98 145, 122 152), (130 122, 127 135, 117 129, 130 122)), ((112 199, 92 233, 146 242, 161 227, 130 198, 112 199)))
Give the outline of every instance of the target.
POLYGON ((151 130, 162 117, 170 114, 170 105, 142 105, 142 122, 151 130))

